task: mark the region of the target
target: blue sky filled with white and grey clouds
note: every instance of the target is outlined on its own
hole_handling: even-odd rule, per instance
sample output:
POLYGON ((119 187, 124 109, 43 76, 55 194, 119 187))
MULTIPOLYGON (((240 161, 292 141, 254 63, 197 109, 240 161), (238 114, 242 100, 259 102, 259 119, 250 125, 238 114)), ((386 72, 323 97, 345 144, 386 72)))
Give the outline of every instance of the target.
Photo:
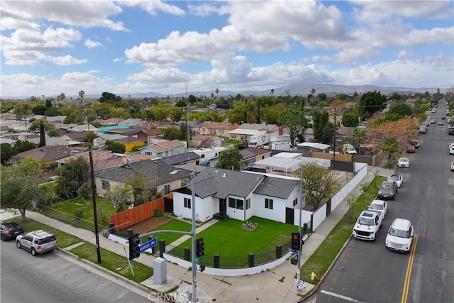
POLYGON ((0 97, 294 83, 449 88, 453 4, 1 1, 0 97))

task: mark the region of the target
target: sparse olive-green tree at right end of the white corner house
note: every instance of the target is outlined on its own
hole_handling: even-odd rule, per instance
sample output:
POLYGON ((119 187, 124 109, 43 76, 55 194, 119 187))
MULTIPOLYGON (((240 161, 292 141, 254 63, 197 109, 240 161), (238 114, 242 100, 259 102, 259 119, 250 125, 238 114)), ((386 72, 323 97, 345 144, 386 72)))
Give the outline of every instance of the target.
POLYGON ((301 167, 304 179, 304 197, 312 211, 316 211, 323 200, 338 191, 340 184, 336 178, 336 171, 315 165, 315 162, 301 165, 301 167))

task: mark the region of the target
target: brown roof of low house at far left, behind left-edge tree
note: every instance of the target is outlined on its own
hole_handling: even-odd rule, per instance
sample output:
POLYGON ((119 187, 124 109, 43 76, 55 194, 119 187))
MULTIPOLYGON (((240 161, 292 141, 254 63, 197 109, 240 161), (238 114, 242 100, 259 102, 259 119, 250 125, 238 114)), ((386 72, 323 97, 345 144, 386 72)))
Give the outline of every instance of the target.
POLYGON ((84 148, 68 148, 67 146, 50 146, 45 145, 42 148, 35 148, 33 150, 26 150, 17 155, 13 155, 11 160, 23 160, 31 157, 36 160, 40 165, 48 165, 52 162, 62 158, 69 157, 74 153, 74 150, 84 150, 84 148))

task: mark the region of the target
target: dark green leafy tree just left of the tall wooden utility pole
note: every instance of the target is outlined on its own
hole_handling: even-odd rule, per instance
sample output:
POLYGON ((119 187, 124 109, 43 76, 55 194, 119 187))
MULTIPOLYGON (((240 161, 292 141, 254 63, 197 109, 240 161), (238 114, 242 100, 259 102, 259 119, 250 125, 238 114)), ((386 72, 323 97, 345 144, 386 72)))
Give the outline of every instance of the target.
POLYGON ((82 184, 88 182, 89 164, 81 156, 65 162, 57 168, 55 178, 55 193, 65 199, 77 197, 77 191, 82 184))

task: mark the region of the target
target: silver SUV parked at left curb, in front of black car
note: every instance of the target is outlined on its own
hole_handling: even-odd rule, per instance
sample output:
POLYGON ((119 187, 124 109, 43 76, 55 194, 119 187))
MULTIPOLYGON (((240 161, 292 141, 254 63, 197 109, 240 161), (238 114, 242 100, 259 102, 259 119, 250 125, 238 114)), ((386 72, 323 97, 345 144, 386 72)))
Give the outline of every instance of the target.
POLYGON ((17 236, 16 247, 30 251, 33 256, 41 255, 57 248, 57 238, 47 231, 31 231, 17 236))

